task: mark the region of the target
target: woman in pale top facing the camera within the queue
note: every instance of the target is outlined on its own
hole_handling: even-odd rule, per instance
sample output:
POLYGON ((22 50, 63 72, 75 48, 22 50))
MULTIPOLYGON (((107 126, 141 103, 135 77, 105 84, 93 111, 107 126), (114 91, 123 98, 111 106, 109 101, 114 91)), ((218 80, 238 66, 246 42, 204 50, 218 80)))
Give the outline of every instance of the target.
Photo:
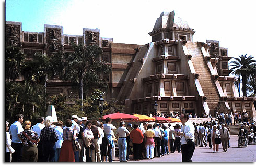
POLYGON ((91 155, 92 149, 95 149, 92 145, 92 139, 94 139, 94 133, 91 131, 92 122, 87 121, 86 129, 84 130, 84 139, 85 139, 85 150, 86 150, 86 162, 92 162, 91 155))

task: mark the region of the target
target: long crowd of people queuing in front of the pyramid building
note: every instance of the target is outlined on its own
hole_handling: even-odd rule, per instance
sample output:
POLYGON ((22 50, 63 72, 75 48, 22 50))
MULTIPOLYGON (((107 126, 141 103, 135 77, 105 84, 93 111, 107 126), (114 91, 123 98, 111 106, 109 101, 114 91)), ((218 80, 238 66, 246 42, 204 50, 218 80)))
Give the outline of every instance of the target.
MULTIPOLYGON (((63 123, 60 120, 53 122, 48 116, 45 119, 38 117, 37 124, 31 126, 29 120, 23 120, 23 115, 15 117, 10 128, 6 121, 6 162, 112 162, 117 154, 120 162, 127 162, 131 152, 133 160, 139 161, 176 151, 182 153, 182 161, 191 161, 195 147, 207 147, 208 144, 213 152, 219 151, 220 143, 224 152, 230 147, 230 129, 227 121, 219 119, 222 116, 190 124, 187 121, 190 114, 182 113, 179 115, 181 124, 174 126, 147 122, 125 126, 125 122, 120 122, 118 128, 111 118, 106 118, 103 123, 72 115, 63 123), (79 143, 79 150, 74 151, 74 141, 79 143)), ((249 139, 254 136, 253 123, 251 127, 247 123, 239 126, 240 136, 249 139)))

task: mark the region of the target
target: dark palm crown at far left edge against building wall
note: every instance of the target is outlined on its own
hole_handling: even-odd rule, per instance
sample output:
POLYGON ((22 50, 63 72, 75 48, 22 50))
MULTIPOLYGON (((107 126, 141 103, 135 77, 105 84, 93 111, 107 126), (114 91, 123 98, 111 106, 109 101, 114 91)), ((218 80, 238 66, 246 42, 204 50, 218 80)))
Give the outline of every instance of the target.
POLYGON ((7 46, 5 49, 5 78, 15 81, 24 65, 25 54, 18 47, 7 46))

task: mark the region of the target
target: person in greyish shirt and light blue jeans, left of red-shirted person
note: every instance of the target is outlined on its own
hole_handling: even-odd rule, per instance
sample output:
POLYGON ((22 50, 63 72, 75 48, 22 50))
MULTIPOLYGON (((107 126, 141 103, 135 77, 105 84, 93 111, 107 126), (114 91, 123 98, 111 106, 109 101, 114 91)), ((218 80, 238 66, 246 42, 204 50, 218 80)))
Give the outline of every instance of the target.
POLYGON ((129 135, 130 135, 130 132, 125 127, 125 123, 120 122, 120 127, 117 130, 119 161, 120 162, 127 162, 127 160, 126 160, 126 149, 127 149, 126 137, 129 135))

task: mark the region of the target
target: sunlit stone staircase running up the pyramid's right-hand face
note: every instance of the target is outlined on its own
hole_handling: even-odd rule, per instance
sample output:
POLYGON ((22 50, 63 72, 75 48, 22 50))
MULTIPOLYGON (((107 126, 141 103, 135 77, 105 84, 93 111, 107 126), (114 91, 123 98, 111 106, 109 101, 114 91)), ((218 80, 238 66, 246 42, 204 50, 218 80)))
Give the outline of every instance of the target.
POLYGON ((207 97, 207 104, 210 110, 217 107, 219 99, 218 90, 214 81, 211 78, 210 70, 207 63, 204 60, 201 48, 197 42, 187 42, 186 44, 190 55, 192 55, 192 63, 197 74, 199 74, 199 82, 204 92, 204 96, 207 97))

